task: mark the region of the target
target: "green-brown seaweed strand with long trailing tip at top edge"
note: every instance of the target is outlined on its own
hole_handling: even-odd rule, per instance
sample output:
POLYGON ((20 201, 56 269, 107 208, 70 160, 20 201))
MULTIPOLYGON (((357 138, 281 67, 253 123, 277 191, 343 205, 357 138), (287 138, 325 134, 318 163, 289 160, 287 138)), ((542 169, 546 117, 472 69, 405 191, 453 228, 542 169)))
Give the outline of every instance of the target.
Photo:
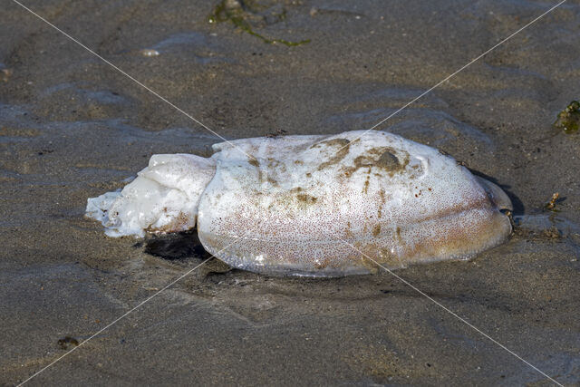
MULTIPOLYGON (((266 17, 259 14, 260 11, 266 8, 267 6, 258 4, 256 0, 221 0, 218 5, 214 7, 211 15, 208 16, 208 22, 216 24, 229 21, 236 25, 240 30, 247 34, 256 36, 266 44, 285 44, 292 47, 310 43, 310 39, 291 42, 285 39, 268 38, 263 34, 256 33, 254 25, 256 24, 256 21, 261 21, 262 24, 268 24, 266 17)), ((282 9, 282 11, 278 13, 273 12, 271 13, 271 16, 273 16, 273 21, 269 24, 282 22, 286 18, 286 10, 282 9)))

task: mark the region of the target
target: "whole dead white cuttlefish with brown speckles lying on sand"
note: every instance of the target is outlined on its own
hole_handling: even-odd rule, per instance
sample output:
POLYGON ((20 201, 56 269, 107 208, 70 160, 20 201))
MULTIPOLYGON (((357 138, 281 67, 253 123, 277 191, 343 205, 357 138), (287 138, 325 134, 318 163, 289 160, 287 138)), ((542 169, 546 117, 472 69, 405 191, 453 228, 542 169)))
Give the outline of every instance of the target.
POLYGON ((506 193, 439 150, 384 131, 231 140, 160 154, 89 198, 111 237, 197 228, 209 253, 258 273, 345 276, 467 259, 511 233, 506 193))

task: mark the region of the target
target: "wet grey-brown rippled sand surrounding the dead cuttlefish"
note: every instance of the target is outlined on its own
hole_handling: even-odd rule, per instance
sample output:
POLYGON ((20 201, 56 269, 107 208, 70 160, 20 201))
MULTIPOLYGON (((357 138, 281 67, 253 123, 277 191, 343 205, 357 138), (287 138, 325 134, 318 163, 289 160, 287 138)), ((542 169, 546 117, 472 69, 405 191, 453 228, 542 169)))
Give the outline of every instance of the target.
MULTIPOLYGON (((227 139, 366 129, 554 1, 280 1, 234 23, 218 2, 28 1, 227 139), (244 25, 242 25, 243 27, 244 25), (147 56, 142 50, 155 50, 147 56)), ((470 261, 397 274, 558 382, 580 382, 580 2, 546 18, 378 129, 506 189, 518 227, 470 261), (543 209, 559 192, 558 212, 543 209)), ((0 14, 0 383, 24 381, 206 256, 105 237, 86 199, 155 153, 221 141, 63 34, 0 14)), ((34 378, 72 384, 548 385, 388 273, 275 278, 201 266, 34 378)))

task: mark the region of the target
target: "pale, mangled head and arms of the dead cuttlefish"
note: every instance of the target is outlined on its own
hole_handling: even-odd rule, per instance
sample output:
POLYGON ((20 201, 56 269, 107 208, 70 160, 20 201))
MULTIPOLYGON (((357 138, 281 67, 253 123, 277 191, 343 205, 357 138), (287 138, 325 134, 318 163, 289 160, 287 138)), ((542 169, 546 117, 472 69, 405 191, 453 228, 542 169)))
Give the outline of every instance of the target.
POLYGON ((89 198, 86 216, 102 222, 110 237, 189 230, 196 226, 199 198, 215 173, 213 159, 153 155, 121 191, 89 198))

